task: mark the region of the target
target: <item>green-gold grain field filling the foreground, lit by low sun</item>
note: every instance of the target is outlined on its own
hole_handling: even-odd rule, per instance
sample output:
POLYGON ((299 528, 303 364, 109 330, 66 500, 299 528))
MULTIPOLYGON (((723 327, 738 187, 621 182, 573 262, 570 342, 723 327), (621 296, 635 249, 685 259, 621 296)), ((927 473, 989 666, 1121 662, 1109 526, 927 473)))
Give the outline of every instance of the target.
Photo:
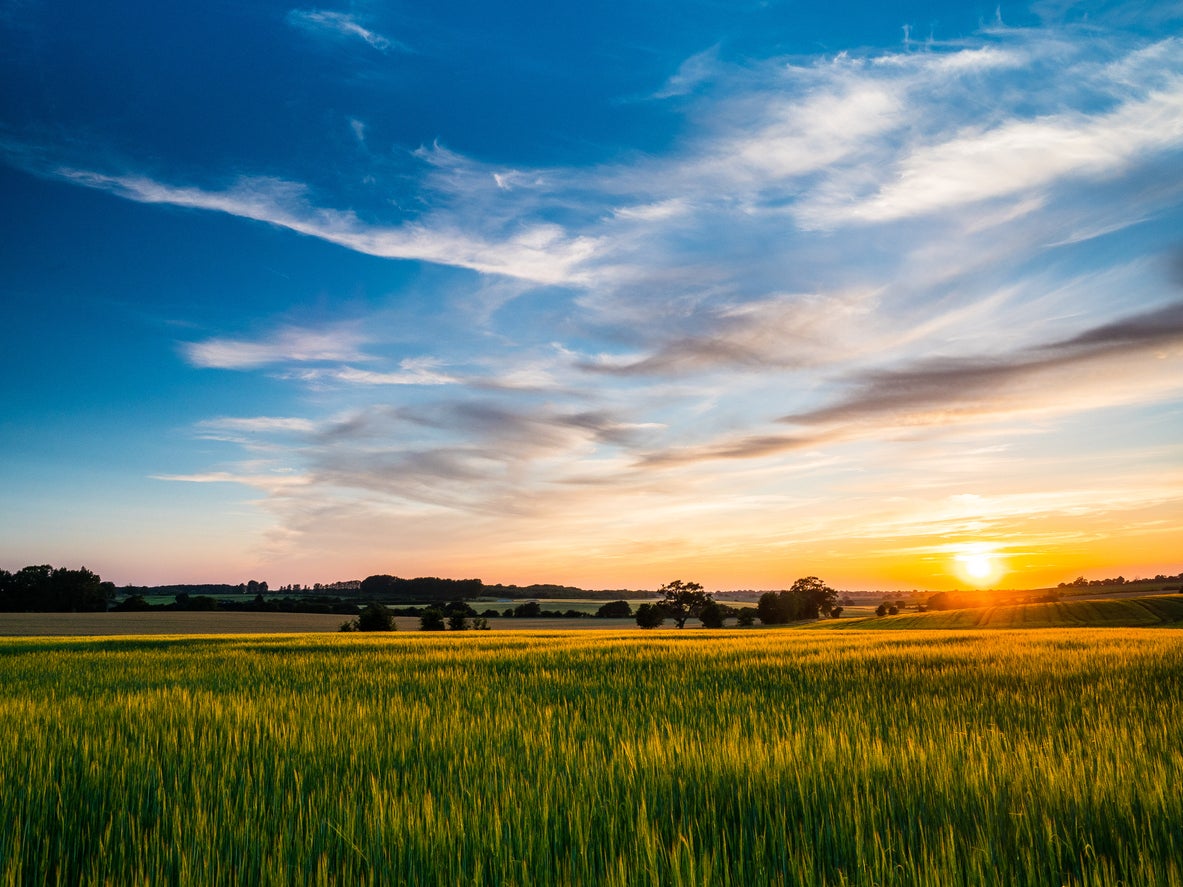
POLYGON ((1183 885, 1172 629, 5 639, 0 681, 6 885, 1183 885))

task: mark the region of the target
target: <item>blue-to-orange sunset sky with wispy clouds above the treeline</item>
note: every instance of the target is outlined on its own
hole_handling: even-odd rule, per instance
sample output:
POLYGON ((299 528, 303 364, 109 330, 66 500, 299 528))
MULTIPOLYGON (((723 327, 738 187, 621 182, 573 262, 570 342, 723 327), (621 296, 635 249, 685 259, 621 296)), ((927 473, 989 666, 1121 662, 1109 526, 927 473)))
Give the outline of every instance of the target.
POLYGON ((1183 570, 1183 2, 0 0, 0 568, 1183 570))

